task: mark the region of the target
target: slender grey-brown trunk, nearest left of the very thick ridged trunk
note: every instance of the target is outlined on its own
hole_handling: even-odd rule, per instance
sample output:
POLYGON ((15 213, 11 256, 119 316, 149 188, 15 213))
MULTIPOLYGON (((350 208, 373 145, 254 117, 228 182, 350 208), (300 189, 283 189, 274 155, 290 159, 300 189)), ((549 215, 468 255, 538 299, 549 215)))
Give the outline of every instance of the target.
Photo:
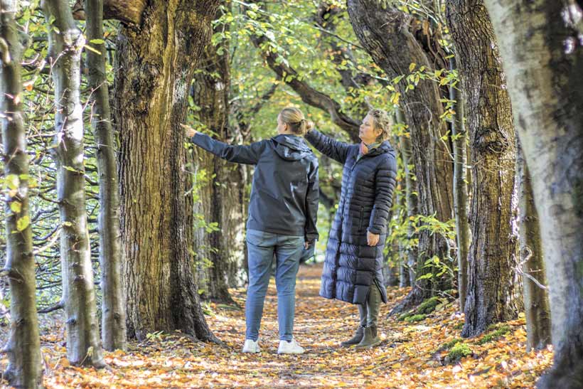
POLYGON ((97 229, 100 236, 102 289, 101 333, 108 351, 126 347, 126 312, 122 275, 122 246, 119 240, 119 193, 114 152, 114 137, 109 112, 109 92, 105 77, 105 43, 103 40, 103 0, 85 0, 87 40, 87 80, 92 89, 91 124, 97 143, 100 213, 97 229))

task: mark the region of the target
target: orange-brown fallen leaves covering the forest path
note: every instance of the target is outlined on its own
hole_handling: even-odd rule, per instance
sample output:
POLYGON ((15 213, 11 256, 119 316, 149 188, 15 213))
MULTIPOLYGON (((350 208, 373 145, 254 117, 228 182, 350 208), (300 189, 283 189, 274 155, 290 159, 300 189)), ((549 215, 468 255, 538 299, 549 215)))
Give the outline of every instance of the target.
MULTIPOLYGON (((321 265, 301 267, 296 293, 294 336, 306 348, 301 356, 277 355, 277 299, 272 282, 265 302, 259 354, 240 350, 245 314, 237 307, 210 304, 207 321, 225 345, 192 341, 181 334, 153 334, 129 350, 105 353, 108 367, 70 366, 65 358, 63 330, 41 338, 45 384, 61 388, 533 388, 550 367, 552 351, 525 351, 523 318, 506 323, 505 335, 480 344, 483 336, 461 339, 471 356, 446 364, 444 344, 459 339, 463 316, 452 304, 438 307, 415 323, 385 319, 407 294, 389 288, 389 304, 380 315, 380 346, 366 351, 339 348, 352 336, 357 309, 318 296, 321 265)), ((245 289, 232 295, 245 306, 245 289)), ((6 366, 6 359, 2 361, 6 366)))

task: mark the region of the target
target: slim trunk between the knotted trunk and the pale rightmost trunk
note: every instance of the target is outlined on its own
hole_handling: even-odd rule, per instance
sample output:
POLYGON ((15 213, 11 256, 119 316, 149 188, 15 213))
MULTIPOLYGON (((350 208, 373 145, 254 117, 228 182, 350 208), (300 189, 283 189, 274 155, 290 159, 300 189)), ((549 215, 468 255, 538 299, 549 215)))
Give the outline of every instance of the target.
POLYGON ((533 186, 524 161, 520 142, 516 139, 516 179, 518 181, 518 227, 520 230, 520 265, 523 270, 524 311, 526 316, 526 349, 539 350, 550 344, 549 296, 538 213, 533 186), (532 277, 532 278, 531 278, 532 277))

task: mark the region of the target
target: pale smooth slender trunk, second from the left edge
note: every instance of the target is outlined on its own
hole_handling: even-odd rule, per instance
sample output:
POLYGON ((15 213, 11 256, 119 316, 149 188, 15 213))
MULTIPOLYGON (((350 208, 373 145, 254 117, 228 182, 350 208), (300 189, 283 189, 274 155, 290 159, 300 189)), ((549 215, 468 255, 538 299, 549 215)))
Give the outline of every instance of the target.
POLYGON ((67 324, 67 358, 76 365, 105 366, 97 323, 95 287, 85 211, 81 50, 85 38, 65 0, 43 2, 55 83, 57 198, 62 225, 60 256, 67 324))

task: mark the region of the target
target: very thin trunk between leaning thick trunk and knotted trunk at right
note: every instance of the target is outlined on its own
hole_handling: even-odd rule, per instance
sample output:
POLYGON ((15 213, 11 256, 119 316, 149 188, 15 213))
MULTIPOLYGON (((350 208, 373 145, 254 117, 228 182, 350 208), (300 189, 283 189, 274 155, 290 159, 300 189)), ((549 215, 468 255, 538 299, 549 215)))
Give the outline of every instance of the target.
MULTIPOLYGON (((456 69, 455 58, 450 60, 451 69, 456 69)), ((449 99, 456 102, 456 114, 451 122, 451 138, 454 149, 454 215, 456 218, 459 310, 466 307, 468 295, 468 254, 470 226, 468 223, 468 184, 466 182, 466 124, 464 123, 464 97, 456 87, 449 87, 449 99)))

